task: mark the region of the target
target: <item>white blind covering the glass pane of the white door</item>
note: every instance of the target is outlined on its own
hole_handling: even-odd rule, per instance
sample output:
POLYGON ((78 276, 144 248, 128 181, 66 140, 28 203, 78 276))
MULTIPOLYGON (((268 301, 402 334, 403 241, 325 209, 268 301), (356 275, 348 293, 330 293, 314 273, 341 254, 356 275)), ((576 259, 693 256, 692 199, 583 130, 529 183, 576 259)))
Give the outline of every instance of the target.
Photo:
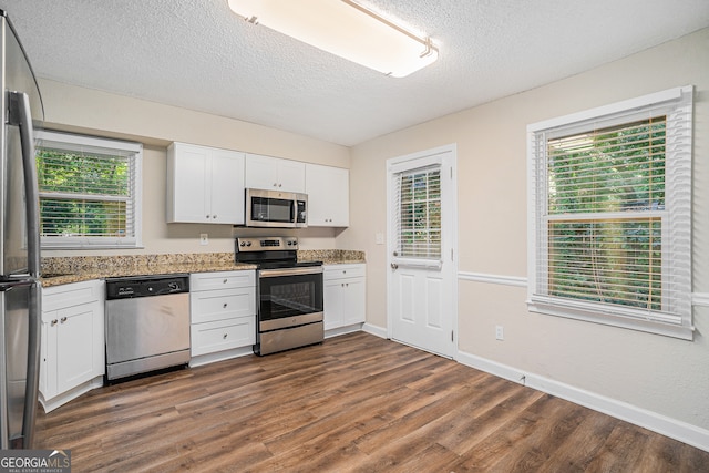
POLYGON ((441 166, 397 175, 398 258, 441 259, 441 166))

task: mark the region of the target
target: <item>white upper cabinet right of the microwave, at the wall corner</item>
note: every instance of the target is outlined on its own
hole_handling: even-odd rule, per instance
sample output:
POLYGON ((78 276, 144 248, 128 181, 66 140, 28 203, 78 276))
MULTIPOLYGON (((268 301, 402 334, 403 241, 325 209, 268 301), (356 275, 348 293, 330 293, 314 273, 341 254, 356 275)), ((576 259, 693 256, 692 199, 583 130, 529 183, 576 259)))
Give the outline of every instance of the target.
POLYGON ((350 172, 306 164, 308 226, 347 227, 350 224, 350 172))

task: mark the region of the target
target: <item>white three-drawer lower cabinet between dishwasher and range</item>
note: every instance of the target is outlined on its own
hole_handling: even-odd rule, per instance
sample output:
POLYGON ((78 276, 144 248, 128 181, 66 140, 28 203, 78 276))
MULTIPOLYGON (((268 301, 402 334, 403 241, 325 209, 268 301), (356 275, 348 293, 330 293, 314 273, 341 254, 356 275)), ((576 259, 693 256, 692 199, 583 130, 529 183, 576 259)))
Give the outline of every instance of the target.
POLYGON ((244 354, 256 343, 256 274, 189 275, 191 366, 244 354))

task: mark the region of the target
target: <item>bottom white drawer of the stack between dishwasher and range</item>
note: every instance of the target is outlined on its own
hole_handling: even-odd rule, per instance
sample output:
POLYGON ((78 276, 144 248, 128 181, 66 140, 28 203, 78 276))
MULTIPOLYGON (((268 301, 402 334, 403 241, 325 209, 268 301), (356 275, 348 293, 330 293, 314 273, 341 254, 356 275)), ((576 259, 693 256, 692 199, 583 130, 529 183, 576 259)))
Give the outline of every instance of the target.
POLYGON ((192 356, 256 343, 256 316, 192 326, 192 356))

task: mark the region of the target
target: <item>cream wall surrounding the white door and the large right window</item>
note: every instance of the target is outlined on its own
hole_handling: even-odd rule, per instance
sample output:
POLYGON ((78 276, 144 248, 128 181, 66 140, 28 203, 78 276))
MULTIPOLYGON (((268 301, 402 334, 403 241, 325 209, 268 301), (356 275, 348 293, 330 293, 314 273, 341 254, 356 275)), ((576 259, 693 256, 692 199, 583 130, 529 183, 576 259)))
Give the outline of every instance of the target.
MULTIPOLYGON (((693 84, 693 290, 709 294, 709 29, 566 80, 354 146, 351 226, 364 249, 369 323, 386 327, 386 160, 458 144, 461 273, 526 277, 526 125, 693 84)), ((521 72, 523 73, 523 72, 521 72)), ((474 85, 471 85, 474 86, 474 85)), ((442 91, 441 93, 444 93, 442 91)), ((693 341, 531 313, 523 287, 459 280, 459 350, 697 426, 709 439, 709 307, 693 341), (496 341, 495 325, 505 340, 496 341)), ((690 429, 691 430, 691 429, 690 429)), ((709 449, 709 443, 706 445, 709 449)))

